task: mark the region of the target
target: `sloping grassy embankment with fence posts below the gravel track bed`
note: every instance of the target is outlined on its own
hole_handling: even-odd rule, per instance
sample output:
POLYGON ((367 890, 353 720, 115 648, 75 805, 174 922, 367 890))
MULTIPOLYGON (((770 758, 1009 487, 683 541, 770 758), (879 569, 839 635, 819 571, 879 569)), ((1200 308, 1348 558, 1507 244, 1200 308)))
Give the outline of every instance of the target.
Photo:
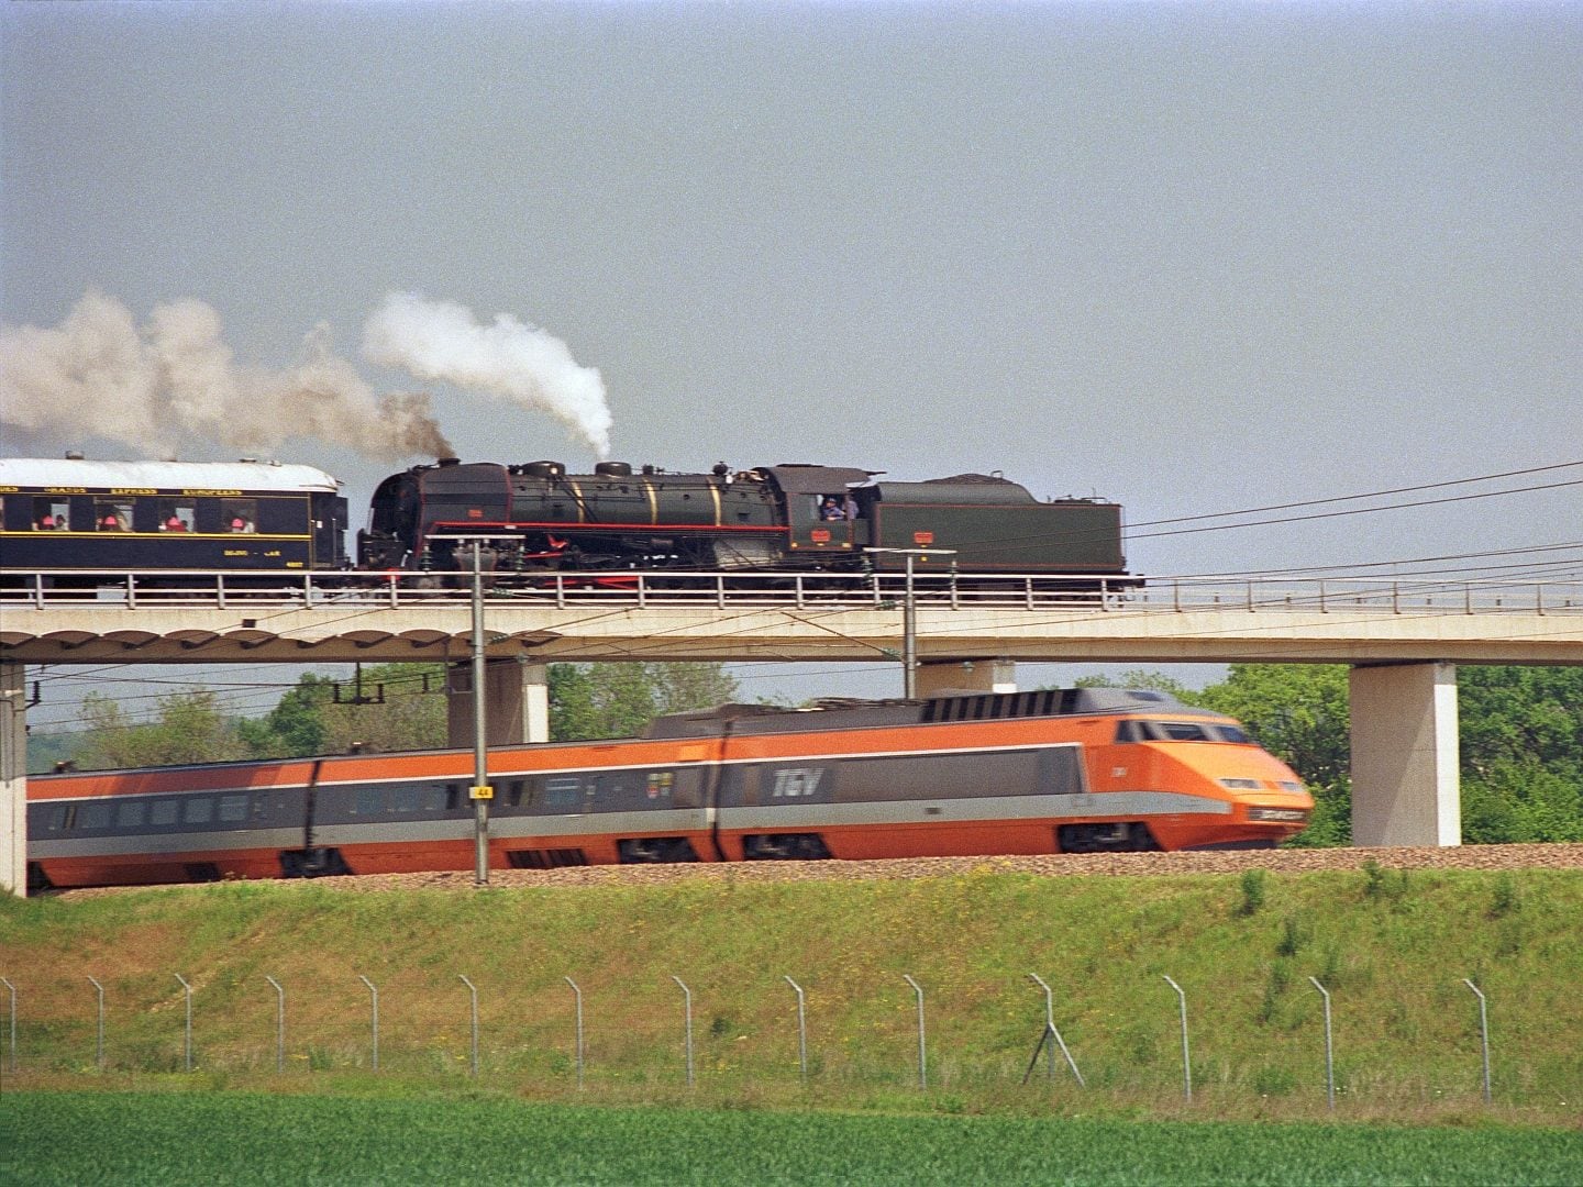
POLYGON ((0 907, 0 975, 19 989, 22 1084, 92 1071, 106 988, 117 1086, 180 1067, 182 991, 203 1083, 356 1089, 446 1076, 465 1087, 480 989, 483 1087, 575 1092, 573 997, 594 1100, 687 1098, 693 991, 700 1103, 937 1111, 1179 1113, 1171 975, 1189 994, 1192 1116, 1322 1116, 1322 1003, 1333 994, 1342 1116, 1437 1121, 1479 1102, 1477 1002, 1491 1003, 1498 1114, 1575 1124, 1583 1102, 1583 872, 689 882, 530 891, 332 893, 266 883, 0 907), (1254 891, 1251 894, 1251 889, 1254 891), (1056 989, 1088 1083, 1019 1081, 1056 989), (382 1075, 367 1073, 380 988, 382 1075), (807 991, 812 1086, 798 1084, 807 991), (912 973, 926 989, 931 1094, 918 1102, 912 973), (288 1067, 274 1073, 275 977, 288 1067), (312 1068, 318 1075, 306 1076, 312 1068), (256 1078, 256 1079, 255 1079, 256 1078), (918 1102, 918 1103, 915 1103, 918 1102))

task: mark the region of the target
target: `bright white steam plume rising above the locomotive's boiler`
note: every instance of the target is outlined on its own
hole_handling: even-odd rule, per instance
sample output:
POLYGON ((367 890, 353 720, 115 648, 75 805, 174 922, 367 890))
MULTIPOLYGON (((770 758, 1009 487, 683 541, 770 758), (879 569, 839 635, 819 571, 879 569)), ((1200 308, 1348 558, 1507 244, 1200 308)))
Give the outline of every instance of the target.
POLYGON ((486 326, 465 305, 389 293, 363 329, 363 353, 423 380, 548 411, 597 457, 609 454, 611 415, 598 370, 578 366, 565 342, 510 313, 495 313, 486 326))

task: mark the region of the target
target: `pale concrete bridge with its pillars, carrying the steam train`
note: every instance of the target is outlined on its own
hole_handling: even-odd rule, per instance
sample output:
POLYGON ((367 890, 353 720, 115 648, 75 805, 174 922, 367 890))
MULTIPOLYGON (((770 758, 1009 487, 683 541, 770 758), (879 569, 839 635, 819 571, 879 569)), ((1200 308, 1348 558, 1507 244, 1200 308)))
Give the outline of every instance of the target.
MULTIPOLYGON (((168 575, 163 575, 168 576, 168 575)), ((606 575, 608 579, 608 575, 606 575)), ((293 576, 272 590, 155 590, 123 575, 93 590, 43 581, 0 590, 5 820, 0 885, 24 886, 27 663, 446 662, 472 654, 465 592, 370 589, 293 576)), ((896 657, 909 603, 901 578, 836 589, 622 575, 617 587, 560 579, 481 600, 492 744, 548 734, 552 662, 896 657)), ((1035 578, 920 579, 912 590, 918 692, 1015 687, 1016 662, 1352 665, 1353 839, 1456 845, 1456 665, 1583 663, 1583 584, 1151 579, 1140 590, 1064 590, 1035 578)), ((459 673, 465 673, 465 666, 459 673)), ((472 738, 470 698, 451 734, 472 738)))

